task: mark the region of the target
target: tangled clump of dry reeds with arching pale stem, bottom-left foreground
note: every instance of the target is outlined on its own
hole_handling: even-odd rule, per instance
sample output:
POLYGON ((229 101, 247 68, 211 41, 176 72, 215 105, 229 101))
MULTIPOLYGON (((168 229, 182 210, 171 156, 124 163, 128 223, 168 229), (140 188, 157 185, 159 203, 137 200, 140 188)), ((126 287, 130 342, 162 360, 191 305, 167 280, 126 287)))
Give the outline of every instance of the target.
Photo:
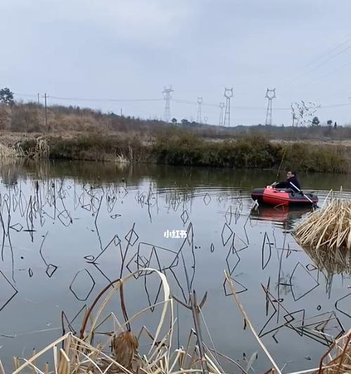
MULTIPOLYGON (((37 354, 33 354, 29 359, 15 357, 13 374, 27 373, 31 370, 40 374, 201 373, 199 347, 192 344, 194 340, 193 332, 190 333, 185 349, 183 347, 173 349, 172 347, 173 328, 176 324, 173 302, 166 277, 157 270, 138 270, 124 277, 124 279, 117 279, 99 293, 93 305, 86 312, 81 325, 80 338, 73 335, 71 331, 37 352, 37 354), (137 336, 129 331, 130 327, 128 326, 142 314, 150 311, 150 306, 131 318, 125 318, 124 323, 121 323, 113 312, 105 316, 105 309, 110 304, 112 296, 121 291, 123 284, 151 273, 158 275, 161 279, 164 298, 161 302, 152 305, 152 307, 161 307, 161 317, 153 335, 144 326, 137 336), (95 307, 97 310, 94 312, 95 307), (113 324, 114 331, 101 333, 99 328, 105 326, 107 322, 113 324), (147 354, 140 356, 138 340, 143 332, 151 340, 151 348, 147 354), (162 332, 164 335, 161 335, 162 332), (61 346, 64 348, 60 348, 61 346), (51 363, 53 367, 49 368, 48 365, 45 365, 44 368, 39 368, 36 363, 39 361, 39 357, 50 351, 53 354, 51 363)), ((123 304, 122 299, 121 304, 123 304)), ((223 373, 211 351, 206 350, 205 357, 209 374, 223 373)), ((0 374, 5 374, 1 361, 0 374)))

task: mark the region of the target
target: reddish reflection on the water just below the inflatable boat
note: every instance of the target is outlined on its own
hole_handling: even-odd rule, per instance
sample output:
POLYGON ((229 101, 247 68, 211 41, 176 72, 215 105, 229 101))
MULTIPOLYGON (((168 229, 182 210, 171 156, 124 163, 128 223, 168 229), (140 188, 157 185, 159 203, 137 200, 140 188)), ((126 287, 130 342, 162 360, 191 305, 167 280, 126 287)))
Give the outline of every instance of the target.
POLYGON ((267 207, 260 206, 251 210, 250 218, 258 221, 272 221, 276 223, 293 223, 300 219, 303 214, 310 212, 310 207, 267 207))

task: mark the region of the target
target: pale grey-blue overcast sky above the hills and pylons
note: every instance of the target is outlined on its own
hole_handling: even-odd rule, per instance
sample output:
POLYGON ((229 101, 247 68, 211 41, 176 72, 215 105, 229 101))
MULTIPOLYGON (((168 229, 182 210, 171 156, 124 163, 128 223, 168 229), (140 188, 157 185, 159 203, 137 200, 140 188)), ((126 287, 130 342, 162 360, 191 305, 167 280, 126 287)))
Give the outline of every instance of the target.
POLYGON ((0 88, 162 118, 172 85, 172 117, 197 120, 196 104, 176 100, 201 96, 215 125, 225 87, 231 125, 265 123, 265 90, 276 88, 274 124, 290 124, 284 108, 300 100, 348 124, 350 15, 350 0, 0 0, 0 88))

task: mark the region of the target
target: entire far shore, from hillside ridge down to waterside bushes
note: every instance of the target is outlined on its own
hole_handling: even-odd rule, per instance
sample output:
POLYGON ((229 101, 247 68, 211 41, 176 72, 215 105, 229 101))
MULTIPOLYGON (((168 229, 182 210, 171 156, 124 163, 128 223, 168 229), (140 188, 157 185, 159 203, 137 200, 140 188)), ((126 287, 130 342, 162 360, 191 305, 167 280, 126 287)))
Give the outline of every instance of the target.
POLYGON ((0 105, 0 158, 351 172, 351 127, 218 127, 40 104, 0 105), (43 122, 44 119, 44 122, 43 122))

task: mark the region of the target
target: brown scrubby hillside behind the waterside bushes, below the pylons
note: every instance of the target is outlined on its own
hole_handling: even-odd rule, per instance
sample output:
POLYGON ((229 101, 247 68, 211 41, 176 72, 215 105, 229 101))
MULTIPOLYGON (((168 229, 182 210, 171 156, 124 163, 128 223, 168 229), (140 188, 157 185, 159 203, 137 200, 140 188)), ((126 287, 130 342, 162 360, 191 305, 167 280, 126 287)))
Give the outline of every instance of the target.
POLYGON ((351 139, 351 127, 334 128, 328 126, 291 127, 289 126, 236 126, 219 127, 214 125, 199 125, 183 119, 180 123, 165 123, 161 120, 142 120, 130 116, 117 116, 114 113, 102 113, 89 108, 78 106, 49 106, 45 116, 44 106, 36 103, 0 104, 0 130, 2 132, 20 133, 91 133, 140 134, 143 137, 166 130, 169 127, 180 127, 192 130, 199 137, 211 139, 226 139, 230 137, 246 137, 260 135, 268 139, 317 139, 317 140, 345 140, 351 139), (47 126, 46 126, 46 118, 47 126))

